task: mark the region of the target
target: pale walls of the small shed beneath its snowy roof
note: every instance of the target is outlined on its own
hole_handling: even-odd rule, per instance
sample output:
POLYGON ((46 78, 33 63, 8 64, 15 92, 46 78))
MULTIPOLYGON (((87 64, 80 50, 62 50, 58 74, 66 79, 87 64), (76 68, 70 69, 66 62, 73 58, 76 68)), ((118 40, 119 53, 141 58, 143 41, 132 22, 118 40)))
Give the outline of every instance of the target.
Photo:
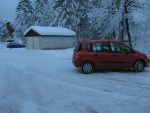
POLYGON ((27 49, 46 50, 73 47, 73 37, 30 36, 27 39, 27 49))

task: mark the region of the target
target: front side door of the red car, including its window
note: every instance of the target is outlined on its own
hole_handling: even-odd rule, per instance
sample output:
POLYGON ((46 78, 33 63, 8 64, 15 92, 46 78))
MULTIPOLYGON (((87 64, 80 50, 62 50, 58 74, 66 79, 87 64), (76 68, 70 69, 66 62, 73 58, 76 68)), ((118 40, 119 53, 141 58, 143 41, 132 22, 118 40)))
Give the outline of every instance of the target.
POLYGON ((131 67, 132 53, 128 46, 117 42, 110 42, 112 49, 112 69, 124 69, 131 67))

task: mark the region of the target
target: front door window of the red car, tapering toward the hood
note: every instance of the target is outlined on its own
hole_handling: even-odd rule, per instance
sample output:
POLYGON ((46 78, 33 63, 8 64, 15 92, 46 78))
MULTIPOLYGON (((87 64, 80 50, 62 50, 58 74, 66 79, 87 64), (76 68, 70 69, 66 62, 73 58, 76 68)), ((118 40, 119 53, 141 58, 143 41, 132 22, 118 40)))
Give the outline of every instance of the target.
POLYGON ((116 52, 116 53, 118 53, 118 52, 119 53, 127 53, 127 52, 129 53, 130 52, 129 47, 119 44, 119 43, 111 42, 110 46, 111 46, 112 52, 116 52))

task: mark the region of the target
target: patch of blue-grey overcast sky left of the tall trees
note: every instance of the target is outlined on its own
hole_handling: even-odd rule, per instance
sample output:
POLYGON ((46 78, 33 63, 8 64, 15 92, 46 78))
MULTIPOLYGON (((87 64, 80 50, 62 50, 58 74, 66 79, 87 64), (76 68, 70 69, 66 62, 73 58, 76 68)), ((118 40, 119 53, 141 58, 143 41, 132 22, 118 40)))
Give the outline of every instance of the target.
POLYGON ((19 0, 0 0, 0 20, 14 21, 17 1, 19 0))

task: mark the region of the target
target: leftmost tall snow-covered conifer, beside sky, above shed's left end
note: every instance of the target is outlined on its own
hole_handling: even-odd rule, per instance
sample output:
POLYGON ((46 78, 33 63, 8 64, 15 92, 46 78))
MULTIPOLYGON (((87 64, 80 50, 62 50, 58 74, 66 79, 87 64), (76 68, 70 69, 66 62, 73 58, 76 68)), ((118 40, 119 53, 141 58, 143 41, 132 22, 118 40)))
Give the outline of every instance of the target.
POLYGON ((34 24, 33 8, 30 0, 20 0, 16 9, 16 35, 22 38, 25 30, 34 24))

